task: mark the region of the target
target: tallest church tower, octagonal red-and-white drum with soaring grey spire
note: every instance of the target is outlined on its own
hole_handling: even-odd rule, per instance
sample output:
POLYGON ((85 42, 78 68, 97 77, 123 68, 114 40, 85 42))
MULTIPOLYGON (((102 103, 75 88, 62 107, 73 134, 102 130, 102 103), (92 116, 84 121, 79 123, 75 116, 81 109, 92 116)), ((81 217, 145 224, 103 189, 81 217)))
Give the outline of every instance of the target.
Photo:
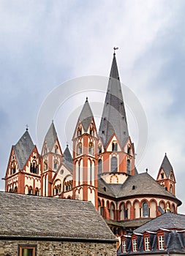
POLYGON ((99 142, 99 174, 112 173, 109 178, 110 183, 123 183, 126 176, 134 176, 135 149, 129 137, 116 53, 113 54, 105 105, 99 126, 99 138, 102 141, 102 147, 99 142), (116 173, 124 173, 124 175, 121 178, 121 175, 116 173))

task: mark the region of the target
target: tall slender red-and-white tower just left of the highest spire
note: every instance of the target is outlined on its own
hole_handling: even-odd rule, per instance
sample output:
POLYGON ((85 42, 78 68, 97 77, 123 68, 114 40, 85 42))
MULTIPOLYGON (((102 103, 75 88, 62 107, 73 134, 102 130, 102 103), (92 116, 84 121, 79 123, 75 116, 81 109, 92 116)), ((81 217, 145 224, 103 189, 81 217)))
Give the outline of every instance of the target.
POLYGON ((88 99, 73 135, 73 197, 91 201, 97 208, 98 136, 88 99))

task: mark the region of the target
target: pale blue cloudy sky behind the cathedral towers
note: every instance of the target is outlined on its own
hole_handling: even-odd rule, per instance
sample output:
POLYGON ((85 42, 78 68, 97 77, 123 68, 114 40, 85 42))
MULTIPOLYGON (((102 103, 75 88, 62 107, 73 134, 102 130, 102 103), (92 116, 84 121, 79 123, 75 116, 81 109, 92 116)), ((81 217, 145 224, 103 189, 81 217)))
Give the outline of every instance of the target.
MULTIPOLYGON (((48 95, 60 85, 61 94, 68 93, 65 103, 61 102, 63 110, 53 99, 50 108, 55 105, 58 110, 53 117, 46 111, 45 118, 54 119, 63 151, 67 141, 71 148, 69 137, 75 124, 69 116, 78 116, 86 96, 96 112, 93 102, 101 105, 105 94, 96 96, 98 89, 89 85, 69 92, 67 81, 108 76, 116 46, 121 82, 143 106, 148 125, 147 145, 142 146, 145 153, 138 156, 137 170, 141 173, 148 168, 156 178, 166 152, 175 172, 176 195, 184 201, 179 212, 185 214, 184 12, 184 0, 1 0, 1 178, 11 146, 23 135, 26 124, 34 143, 39 144, 37 117, 48 95)), ((137 113, 130 111, 132 104, 126 104, 129 132, 137 144, 140 125, 137 113)), ((99 113, 95 116, 98 123, 99 113)), ((42 137, 48 125, 42 127, 42 137)), ((4 181, 0 189, 4 190, 4 181)))

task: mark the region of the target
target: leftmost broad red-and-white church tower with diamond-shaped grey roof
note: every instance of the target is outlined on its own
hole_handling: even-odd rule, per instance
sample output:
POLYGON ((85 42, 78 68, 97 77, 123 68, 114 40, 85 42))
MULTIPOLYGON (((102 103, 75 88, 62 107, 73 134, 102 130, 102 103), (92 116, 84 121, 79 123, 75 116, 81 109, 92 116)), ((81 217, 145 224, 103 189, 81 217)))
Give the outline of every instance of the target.
POLYGON ((40 157, 26 129, 10 153, 5 191, 26 195, 40 194, 40 157))

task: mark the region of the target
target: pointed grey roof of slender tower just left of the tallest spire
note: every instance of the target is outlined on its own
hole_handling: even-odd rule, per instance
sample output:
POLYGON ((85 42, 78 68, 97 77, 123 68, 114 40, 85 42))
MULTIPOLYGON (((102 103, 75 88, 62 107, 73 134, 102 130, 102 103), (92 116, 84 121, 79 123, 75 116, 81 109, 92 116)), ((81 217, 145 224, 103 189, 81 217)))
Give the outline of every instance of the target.
POLYGON ((83 105, 83 109, 79 116, 84 132, 87 132, 88 127, 91 124, 92 118, 93 118, 93 113, 90 105, 88 104, 88 98, 86 98, 86 102, 83 105))

